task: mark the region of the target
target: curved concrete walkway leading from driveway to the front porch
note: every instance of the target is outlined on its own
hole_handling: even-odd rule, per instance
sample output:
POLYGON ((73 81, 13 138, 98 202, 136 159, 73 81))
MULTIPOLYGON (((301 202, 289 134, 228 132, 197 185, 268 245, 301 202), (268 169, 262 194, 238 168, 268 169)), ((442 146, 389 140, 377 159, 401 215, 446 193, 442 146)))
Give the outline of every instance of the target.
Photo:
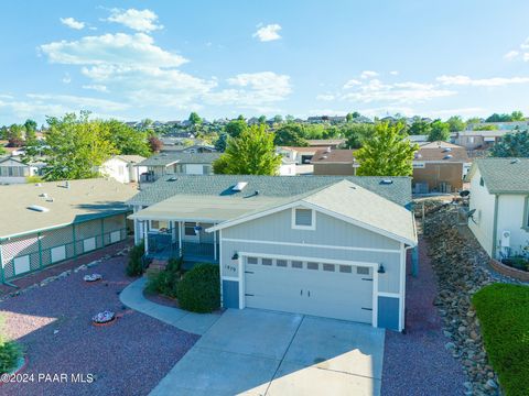
POLYGON ((145 283, 147 278, 142 277, 127 286, 119 295, 121 302, 180 330, 198 336, 203 336, 222 316, 222 314, 194 314, 152 302, 143 296, 145 283))

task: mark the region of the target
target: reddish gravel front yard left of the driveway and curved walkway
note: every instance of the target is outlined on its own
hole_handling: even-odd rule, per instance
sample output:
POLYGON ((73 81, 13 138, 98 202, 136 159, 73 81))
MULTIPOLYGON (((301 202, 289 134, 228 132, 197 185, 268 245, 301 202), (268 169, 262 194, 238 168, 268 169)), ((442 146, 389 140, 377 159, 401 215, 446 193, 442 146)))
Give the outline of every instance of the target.
POLYGON ((7 332, 26 349, 23 373, 34 374, 32 383, 1 385, 0 394, 147 395, 160 382, 198 336, 123 309, 118 293, 133 280, 125 263, 114 257, 0 304, 7 332), (83 276, 94 272, 104 280, 86 284, 83 276), (91 326, 105 309, 120 317, 111 326, 91 326), (37 382, 39 374, 62 373, 67 382, 37 382), (94 374, 96 381, 72 383, 71 374, 94 374))

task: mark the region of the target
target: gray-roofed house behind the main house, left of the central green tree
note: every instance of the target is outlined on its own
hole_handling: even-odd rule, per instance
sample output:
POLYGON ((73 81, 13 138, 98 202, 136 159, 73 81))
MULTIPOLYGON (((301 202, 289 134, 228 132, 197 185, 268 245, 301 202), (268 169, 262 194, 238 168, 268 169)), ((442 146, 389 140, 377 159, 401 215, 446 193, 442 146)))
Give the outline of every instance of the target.
POLYGON ((160 153, 138 166, 147 167, 140 182, 155 182, 165 175, 210 175, 213 174, 213 162, 220 156, 220 153, 160 153))

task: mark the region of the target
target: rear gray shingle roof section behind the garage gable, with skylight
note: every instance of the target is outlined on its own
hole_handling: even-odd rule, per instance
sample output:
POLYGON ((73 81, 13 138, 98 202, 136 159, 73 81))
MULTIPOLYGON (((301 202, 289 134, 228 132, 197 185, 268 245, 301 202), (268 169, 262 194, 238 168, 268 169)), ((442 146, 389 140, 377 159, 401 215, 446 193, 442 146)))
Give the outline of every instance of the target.
POLYGON ((291 197, 331 186, 339 180, 349 180, 376 193, 398 205, 411 202, 411 179, 409 177, 378 176, 255 176, 255 175, 169 175, 151 185, 142 185, 142 190, 132 197, 129 205, 150 206, 175 195, 248 196, 259 191, 267 197, 291 197), (384 184, 382 180, 391 180, 384 184), (241 193, 231 191, 238 182, 248 185, 241 193))

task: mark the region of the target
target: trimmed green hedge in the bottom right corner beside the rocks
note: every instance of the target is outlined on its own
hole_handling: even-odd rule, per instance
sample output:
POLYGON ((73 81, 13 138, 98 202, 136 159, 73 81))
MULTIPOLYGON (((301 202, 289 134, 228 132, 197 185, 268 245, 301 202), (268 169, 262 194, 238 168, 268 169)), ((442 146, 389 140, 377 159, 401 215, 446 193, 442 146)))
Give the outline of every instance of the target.
POLYGON ((474 295, 485 349, 507 396, 529 389, 529 287, 494 284, 474 295))

